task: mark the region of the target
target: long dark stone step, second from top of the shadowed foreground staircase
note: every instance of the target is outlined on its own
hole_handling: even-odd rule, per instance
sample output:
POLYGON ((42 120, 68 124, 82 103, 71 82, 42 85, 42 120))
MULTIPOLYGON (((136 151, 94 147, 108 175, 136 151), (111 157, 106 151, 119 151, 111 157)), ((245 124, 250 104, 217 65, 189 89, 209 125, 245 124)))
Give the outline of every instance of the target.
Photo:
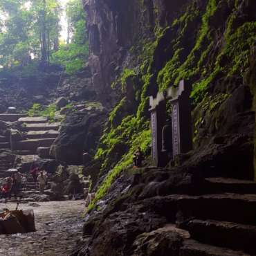
POLYGON ((170 222, 214 219, 243 224, 256 224, 256 194, 205 194, 190 196, 171 194, 148 199, 156 212, 165 214, 170 222))

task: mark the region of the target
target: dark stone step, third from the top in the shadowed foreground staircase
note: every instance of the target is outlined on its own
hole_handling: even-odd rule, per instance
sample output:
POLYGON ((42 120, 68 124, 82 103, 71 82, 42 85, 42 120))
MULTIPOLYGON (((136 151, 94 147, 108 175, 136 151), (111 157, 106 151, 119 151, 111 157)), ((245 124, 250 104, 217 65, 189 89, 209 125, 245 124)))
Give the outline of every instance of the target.
POLYGON ((226 221, 193 219, 183 226, 192 239, 204 244, 228 247, 232 250, 256 254, 256 226, 241 225, 226 221))

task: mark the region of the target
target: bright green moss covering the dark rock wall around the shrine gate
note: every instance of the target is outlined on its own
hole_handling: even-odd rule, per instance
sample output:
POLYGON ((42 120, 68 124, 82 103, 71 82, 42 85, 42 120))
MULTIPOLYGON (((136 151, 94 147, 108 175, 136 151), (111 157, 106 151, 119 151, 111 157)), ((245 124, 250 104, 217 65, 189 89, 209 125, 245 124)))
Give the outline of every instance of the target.
MULTIPOLYGON (((127 98, 123 97, 109 115, 109 128, 100 140, 95 159, 102 163, 102 172, 111 171, 100 185, 90 208, 104 196, 120 172, 132 163, 136 138, 139 140, 141 136, 140 143, 145 140, 149 147, 150 138, 143 138, 149 131, 149 95, 178 84, 181 79, 190 80, 194 107, 203 107, 194 120, 197 131, 203 122, 201 113, 217 116, 223 102, 230 97, 228 88, 211 96, 209 91, 216 81, 233 74, 243 77, 248 68, 249 49, 255 44, 256 38, 255 21, 241 22, 237 16, 238 1, 230 1, 226 24, 219 24, 218 20, 219 13, 223 12, 223 1, 208 0, 202 2, 201 6, 195 2, 188 3, 185 12, 174 19, 171 27, 156 26, 154 39, 140 39, 138 44, 130 48, 131 55, 136 55, 138 66, 124 69, 116 81, 120 82, 124 92, 127 77, 136 74, 140 78, 142 86, 135 92, 139 106, 134 115, 120 120, 119 113, 124 113, 127 104, 127 98), (196 33, 191 33, 191 30, 196 33), (164 63, 158 61, 159 53, 165 55, 164 63), (143 122, 147 125, 143 126, 143 122), (118 145, 125 149, 122 154, 116 154, 118 145)), ((143 5, 144 1, 140 1, 140 4, 143 5)), ((194 139, 198 139, 196 132, 194 139)))

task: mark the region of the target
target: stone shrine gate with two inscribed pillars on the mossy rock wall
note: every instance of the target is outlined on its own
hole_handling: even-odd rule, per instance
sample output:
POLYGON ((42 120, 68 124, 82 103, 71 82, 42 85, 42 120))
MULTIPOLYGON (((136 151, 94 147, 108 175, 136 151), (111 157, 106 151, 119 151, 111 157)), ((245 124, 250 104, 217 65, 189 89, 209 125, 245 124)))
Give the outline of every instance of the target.
POLYGON ((156 98, 150 97, 151 129, 152 129, 152 161, 157 167, 165 167, 168 161, 178 154, 187 153, 192 149, 191 121, 191 86, 181 80, 179 86, 171 86, 158 92, 156 98), (168 116, 166 104, 171 104, 171 116, 168 116), (166 129, 166 120, 172 119, 172 132, 166 129), (170 132, 165 135, 165 132, 170 132), (167 138, 168 141, 163 143, 167 138), (163 145, 170 143, 169 152, 163 145))

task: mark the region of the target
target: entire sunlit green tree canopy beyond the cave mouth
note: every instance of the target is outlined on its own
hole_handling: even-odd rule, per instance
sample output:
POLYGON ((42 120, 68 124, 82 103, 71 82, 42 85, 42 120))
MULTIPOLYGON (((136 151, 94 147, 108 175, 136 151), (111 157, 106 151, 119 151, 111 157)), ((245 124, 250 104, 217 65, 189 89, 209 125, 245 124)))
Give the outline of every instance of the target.
POLYGON ((0 65, 27 66, 57 63, 74 73, 88 56, 86 17, 82 0, 0 1, 0 65), (63 10, 64 9, 64 10, 63 10), (60 40, 60 20, 66 13, 68 38, 60 40))

